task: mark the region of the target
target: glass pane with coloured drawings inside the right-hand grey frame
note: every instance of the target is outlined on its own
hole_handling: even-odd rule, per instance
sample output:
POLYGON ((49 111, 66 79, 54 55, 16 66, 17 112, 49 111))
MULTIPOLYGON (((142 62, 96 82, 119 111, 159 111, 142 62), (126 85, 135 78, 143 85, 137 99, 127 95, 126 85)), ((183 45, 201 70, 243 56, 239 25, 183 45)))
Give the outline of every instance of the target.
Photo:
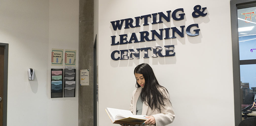
POLYGON ((238 7, 237 17, 240 103, 244 120, 256 116, 256 7, 238 7))

